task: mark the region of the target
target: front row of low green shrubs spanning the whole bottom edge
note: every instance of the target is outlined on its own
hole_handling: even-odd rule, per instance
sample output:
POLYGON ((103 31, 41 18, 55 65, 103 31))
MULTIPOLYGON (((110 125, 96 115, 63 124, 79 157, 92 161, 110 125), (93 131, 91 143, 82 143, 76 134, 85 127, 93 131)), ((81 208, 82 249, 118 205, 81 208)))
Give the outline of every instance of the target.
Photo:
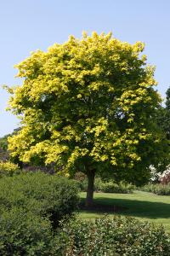
POLYGON ((13 208, 0 218, 0 255, 169 256, 170 239, 134 218, 67 220, 54 230, 48 218, 13 208))

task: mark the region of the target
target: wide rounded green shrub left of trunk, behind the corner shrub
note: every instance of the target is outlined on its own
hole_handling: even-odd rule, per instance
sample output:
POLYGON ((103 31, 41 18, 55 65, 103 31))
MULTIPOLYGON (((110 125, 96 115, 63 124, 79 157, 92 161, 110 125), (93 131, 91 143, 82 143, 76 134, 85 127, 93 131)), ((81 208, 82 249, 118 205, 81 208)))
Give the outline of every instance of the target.
POLYGON ((77 209, 77 183, 42 172, 22 173, 0 179, 0 212, 22 207, 36 215, 51 216, 57 224, 77 209))

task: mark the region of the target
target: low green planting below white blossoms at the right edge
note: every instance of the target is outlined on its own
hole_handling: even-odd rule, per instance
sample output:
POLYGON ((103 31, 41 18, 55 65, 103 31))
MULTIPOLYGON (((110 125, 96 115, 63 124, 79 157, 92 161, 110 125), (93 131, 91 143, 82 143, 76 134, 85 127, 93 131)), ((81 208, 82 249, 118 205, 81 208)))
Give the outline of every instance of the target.
POLYGON ((147 184, 141 188, 146 192, 151 192, 156 195, 170 195, 170 184, 147 184))

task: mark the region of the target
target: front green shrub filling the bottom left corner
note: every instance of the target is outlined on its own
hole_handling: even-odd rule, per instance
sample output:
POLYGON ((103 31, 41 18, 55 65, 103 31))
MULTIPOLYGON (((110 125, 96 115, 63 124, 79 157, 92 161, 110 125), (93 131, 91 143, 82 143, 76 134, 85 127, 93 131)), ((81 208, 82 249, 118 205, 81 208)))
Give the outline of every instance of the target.
POLYGON ((48 218, 13 207, 0 218, 0 255, 59 255, 48 218))

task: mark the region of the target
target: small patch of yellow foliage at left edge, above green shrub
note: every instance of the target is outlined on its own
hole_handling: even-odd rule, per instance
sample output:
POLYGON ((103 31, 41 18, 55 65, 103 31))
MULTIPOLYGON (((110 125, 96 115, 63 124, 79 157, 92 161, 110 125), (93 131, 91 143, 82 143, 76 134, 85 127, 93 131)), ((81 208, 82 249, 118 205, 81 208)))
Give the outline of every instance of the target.
POLYGON ((0 160, 0 177, 13 176, 14 173, 19 172, 19 166, 9 161, 3 162, 0 160))

